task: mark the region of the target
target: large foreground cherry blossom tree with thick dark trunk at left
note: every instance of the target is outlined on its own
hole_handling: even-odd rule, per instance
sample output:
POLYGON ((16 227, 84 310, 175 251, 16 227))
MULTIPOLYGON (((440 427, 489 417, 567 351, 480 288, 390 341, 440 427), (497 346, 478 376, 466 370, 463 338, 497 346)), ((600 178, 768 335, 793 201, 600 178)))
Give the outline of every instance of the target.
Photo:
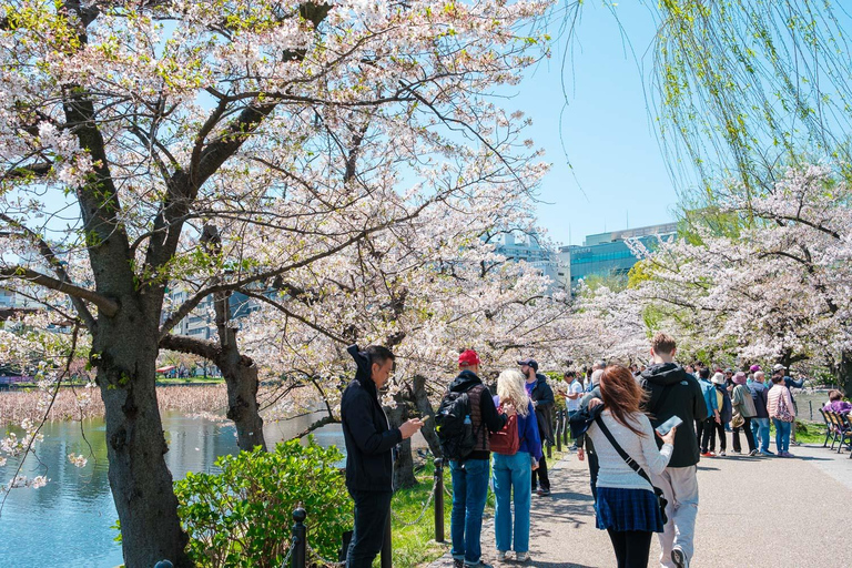
POLYGON ((545 8, 0 8, 0 213, 23 253, 3 256, 0 277, 65 294, 91 335, 126 566, 189 564, 162 457, 162 339, 210 295, 283 281, 470 190, 458 174, 476 164, 519 170, 528 153, 486 95, 541 53, 523 27, 545 8), (353 146, 352 163, 384 152, 410 170, 379 161, 344 181, 336 156, 353 146), (416 176, 427 182, 406 183, 416 176), (205 225, 221 252, 201 245, 205 225), (246 254, 264 240, 283 246, 246 254), (83 258, 73 272, 70 255, 83 258), (175 282, 192 294, 166 313, 175 282))

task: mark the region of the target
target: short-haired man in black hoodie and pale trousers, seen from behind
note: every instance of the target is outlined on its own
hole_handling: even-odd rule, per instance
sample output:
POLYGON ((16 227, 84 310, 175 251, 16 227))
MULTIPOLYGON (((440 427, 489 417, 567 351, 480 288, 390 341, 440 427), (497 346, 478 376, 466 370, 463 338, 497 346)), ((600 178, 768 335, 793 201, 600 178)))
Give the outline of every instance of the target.
MULTIPOLYGON (((697 464, 700 459, 696 439, 696 420, 707 418, 707 405, 696 377, 687 374, 674 363, 677 344, 665 333, 651 339, 652 364, 642 372, 639 383, 648 393, 645 410, 655 428, 672 416, 683 424, 674 435, 674 449, 668 467, 653 483, 662 489, 669 504, 666 515, 669 521, 660 539, 660 565, 688 568, 693 551, 693 534, 698 516, 697 464)), ((657 445, 662 446, 659 436, 657 445)))

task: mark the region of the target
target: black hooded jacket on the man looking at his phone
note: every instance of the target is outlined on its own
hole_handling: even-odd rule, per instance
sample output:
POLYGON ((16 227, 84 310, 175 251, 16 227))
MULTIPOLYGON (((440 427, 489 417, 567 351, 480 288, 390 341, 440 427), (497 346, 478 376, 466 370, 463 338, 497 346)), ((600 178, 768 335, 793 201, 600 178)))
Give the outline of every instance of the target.
POLYGON ((390 491, 394 483, 390 450, 403 440, 403 434, 399 428, 389 427, 378 402, 368 357, 358 352, 357 345, 347 351, 358 369, 341 402, 346 442, 346 487, 355 491, 390 491))

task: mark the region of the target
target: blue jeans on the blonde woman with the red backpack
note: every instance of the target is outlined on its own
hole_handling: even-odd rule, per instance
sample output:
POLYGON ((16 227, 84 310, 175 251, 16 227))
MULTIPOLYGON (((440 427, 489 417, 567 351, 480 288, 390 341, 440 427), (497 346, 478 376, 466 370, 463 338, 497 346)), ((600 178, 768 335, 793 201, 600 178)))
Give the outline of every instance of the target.
POLYGON ((532 463, 529 452, 514 456, 494 455, 494 495, 497 507, 494 511, 494 531, 497 550, 529 551, 529 484, 532 463), (511 523, 513 490, 515 491, 515 530, 511 523), (515 547, 511 537, 515 536, 515 547))

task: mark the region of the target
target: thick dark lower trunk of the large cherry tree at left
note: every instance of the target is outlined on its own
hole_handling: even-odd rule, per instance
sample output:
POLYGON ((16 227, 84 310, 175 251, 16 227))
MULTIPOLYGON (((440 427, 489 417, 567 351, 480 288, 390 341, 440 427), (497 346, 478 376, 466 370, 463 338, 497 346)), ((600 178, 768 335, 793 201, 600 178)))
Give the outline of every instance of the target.
POLYGON ((189 537, 178 518, 169 452, 156 405, 156 321, 122 303, 113 318, 101 316, 92 345, 105 407, 109 479, 128 568, 150 568, 169 559, 192 566, 189 537))

